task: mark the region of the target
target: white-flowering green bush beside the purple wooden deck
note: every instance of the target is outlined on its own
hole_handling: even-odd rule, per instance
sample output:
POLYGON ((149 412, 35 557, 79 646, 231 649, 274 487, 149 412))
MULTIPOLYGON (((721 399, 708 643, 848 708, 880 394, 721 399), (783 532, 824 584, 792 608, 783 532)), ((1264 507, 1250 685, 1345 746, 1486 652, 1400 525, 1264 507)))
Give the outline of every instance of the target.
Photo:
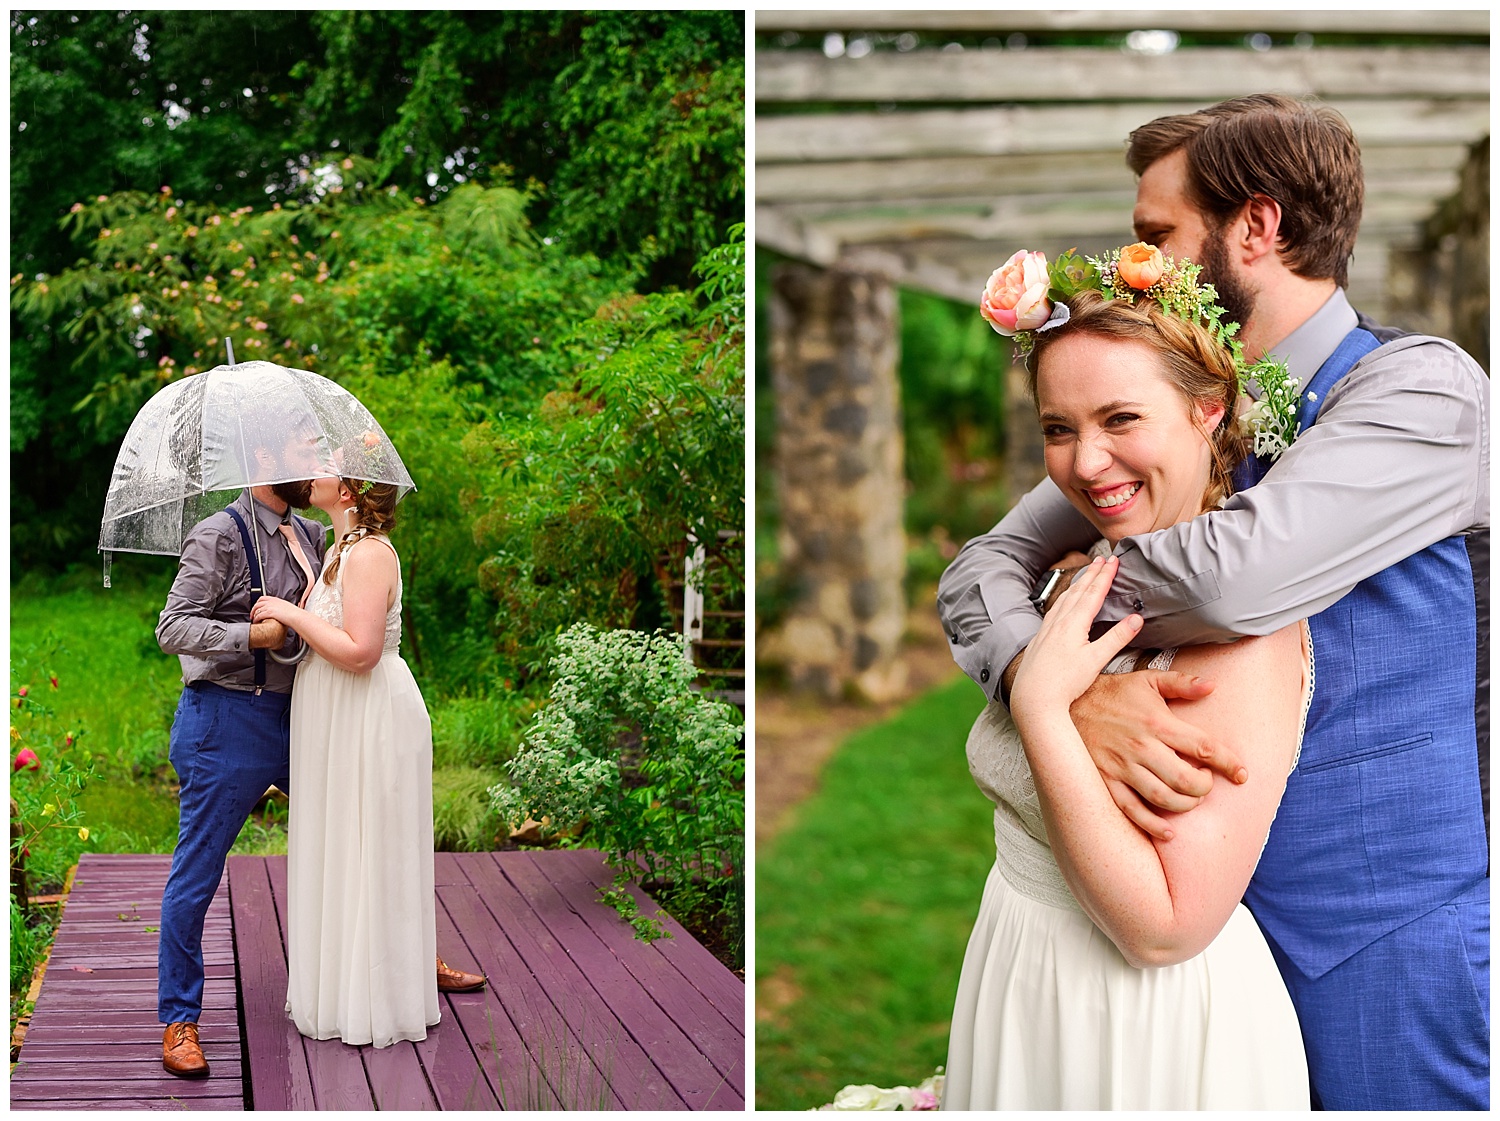
MULTIPOLYGON (((513 827, 578 831, 627 878, 650 879, 680 918, 744 915, 744 744, 740 710, 692 687, 680 638, 574 624, 550 662, 552 692, 490 788, 513 827)), ((650 924, 636 921, 646 933, 650 924)))

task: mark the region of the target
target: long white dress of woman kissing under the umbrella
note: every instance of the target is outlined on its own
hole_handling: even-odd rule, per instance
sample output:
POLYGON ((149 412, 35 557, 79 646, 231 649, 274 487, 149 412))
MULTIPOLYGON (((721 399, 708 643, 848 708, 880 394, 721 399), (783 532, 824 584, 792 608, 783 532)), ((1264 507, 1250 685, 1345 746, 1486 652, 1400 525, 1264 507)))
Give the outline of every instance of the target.
MULTIPOLYGON (((346 567, 308 600, 336 627, 346 567)), ((286 1011, 303 1035, 376 1047, 426 1038, 440 1016, 432 723, 399 647, 398 584, 375 668, 309 651, 291 698, 286 1011)))

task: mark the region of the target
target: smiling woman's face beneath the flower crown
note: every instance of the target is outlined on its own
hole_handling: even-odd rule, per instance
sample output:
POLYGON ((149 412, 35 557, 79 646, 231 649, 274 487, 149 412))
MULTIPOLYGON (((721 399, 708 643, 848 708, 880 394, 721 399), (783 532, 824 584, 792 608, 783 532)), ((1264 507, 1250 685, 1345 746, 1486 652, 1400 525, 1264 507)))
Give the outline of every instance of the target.
POLYGON ((1224 407, 1190 405, 1146 344, 1059 339, 1040 356, 1036 408, 1047 474, 1110 543, 1202 513, 1224 407))

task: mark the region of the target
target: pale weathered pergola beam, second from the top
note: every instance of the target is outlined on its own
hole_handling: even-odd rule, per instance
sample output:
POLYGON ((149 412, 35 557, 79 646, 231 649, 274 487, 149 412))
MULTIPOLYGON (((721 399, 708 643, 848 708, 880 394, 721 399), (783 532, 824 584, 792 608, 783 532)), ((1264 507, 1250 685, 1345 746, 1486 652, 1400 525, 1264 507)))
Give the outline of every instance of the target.
POLYGON ((1296 47, 1251 51, 1200 47, 1138 54, 1098 47, 1026 51, 879 51, 825 59, 816 51, 759 51, 759 104, 774 102, 1008 102, 1185 99, 1209 105, 1245 90, 1292 96, 1484 98, 1488 47, 1296 47))

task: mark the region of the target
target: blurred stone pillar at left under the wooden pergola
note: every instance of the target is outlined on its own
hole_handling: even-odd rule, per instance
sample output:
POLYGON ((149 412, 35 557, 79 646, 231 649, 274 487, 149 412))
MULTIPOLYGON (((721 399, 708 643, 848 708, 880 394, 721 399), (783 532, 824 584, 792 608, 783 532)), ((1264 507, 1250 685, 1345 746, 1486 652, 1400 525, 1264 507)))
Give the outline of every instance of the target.
POLYGON ((771 275, 771 377, 782 573, 777 645, 794 687, 902 692, 906 480, 890 281, 782 264, 771 275))

